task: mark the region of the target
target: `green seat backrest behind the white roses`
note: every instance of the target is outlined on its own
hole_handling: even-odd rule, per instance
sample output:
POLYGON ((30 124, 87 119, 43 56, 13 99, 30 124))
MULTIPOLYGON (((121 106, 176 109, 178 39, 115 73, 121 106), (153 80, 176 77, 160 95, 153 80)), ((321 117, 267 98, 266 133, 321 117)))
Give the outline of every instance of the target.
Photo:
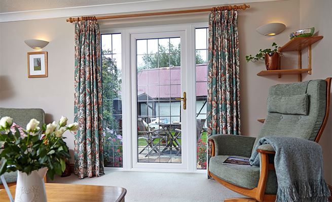
POLYGON ((40 127, 45 123, 45 112, 42 109, 0 108, 0 117, 5 116, 13 118, 13 121, 24 129, 33 118, 40 121, 40 127))

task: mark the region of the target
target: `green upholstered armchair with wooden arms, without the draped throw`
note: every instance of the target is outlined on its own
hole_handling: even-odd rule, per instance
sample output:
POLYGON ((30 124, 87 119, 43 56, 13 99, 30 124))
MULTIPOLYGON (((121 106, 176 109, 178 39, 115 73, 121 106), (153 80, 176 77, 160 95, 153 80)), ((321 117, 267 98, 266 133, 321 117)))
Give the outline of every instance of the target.
POLYGON ((209 137, 209 176, 249 197, 225 201, 275 201, 278 184, 271 157, 275 152, 271 145, 261 145, 257 149, 261 157, 260 167, 223 165, 223 162, 229 156, 250 158, 254 145, 264 136, 299 137, 318 142, 328 118, 330 84, 331 78, 327 78, 272 86, 268 115, 257 138, 241 135, 209 137))

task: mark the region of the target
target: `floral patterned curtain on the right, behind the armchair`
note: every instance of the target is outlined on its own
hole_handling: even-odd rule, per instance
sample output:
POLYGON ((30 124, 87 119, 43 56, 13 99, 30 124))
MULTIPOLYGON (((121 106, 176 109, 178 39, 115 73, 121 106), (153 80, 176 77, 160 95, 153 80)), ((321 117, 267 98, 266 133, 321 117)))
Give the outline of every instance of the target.
POLYGON ((220 7, 209 15, 208 135, 241 133, 237 24, 238 13, 234 10, 223 11, 220 7))

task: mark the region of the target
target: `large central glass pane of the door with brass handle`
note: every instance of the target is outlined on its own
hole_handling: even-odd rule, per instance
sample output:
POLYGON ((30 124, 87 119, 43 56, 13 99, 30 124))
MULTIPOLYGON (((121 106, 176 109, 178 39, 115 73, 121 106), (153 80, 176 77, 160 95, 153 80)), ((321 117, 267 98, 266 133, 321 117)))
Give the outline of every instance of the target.
POLYGON ((180 50, 180 37, 136 40, 138 162, 182 162, 180 50))

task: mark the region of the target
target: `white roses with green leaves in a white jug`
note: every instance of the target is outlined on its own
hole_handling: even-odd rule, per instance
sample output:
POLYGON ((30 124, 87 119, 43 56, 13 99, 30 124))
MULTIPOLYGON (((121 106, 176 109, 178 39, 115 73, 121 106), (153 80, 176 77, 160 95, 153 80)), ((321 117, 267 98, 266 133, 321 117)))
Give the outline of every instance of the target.
POLYGON ((0 162, 0 176, 18 171, 15 202, 47 201, 43 178, 47 173, 53 179, 65 170, 65 161, 70 155, 63 133, 79 127, 78 123, 67 125, 66 117, 61 117, 58 123, 41 127, 39 124, 38 120, 31 119, 23 129, 11 117, 0 119, 0 160, 4 159, 0 162))

